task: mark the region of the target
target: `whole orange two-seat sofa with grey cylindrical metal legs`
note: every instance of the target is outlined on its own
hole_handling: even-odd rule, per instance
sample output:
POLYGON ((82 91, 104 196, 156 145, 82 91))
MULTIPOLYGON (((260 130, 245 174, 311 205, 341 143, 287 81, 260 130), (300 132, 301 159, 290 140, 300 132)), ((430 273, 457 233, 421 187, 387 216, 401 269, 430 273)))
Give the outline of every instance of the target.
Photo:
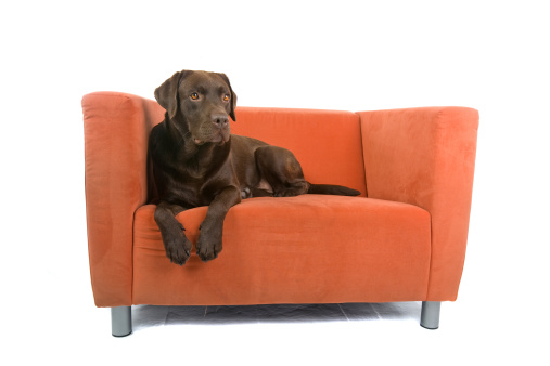
MULTIPOLYGON (((179 266, 148 205, 148 138, 165 110, 115 92, 85 95, 82 109, 91 284, 113 335, 131 332, 135 304, 422 301, 421 324, 437 328, 440 302, 456 300, 477 110, 239 107, 232 133, 290 148, 309 182, 361 196, 245 199, 226 218, 219 258, 179 266)), ((205 214, 177 217, 191 241, 205 214)))

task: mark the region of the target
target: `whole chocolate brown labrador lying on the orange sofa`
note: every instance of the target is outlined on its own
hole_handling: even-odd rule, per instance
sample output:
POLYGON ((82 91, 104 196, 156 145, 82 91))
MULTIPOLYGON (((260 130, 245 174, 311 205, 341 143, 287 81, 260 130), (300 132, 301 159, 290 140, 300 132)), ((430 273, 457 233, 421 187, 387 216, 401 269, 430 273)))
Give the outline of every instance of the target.
POLYGON ((154 218, 172 263, 184 264, 192 249, 175 218, 183 210, 208 206, 196 243, 196 253, 206 262, 221 251, 223 219, 243 198, 359 194, 308 183, 290 151, 231 134, 236 95, 225 74, 176 73, 155 90, 155 97, 166 115, 149 139, 159 199, 154 218))

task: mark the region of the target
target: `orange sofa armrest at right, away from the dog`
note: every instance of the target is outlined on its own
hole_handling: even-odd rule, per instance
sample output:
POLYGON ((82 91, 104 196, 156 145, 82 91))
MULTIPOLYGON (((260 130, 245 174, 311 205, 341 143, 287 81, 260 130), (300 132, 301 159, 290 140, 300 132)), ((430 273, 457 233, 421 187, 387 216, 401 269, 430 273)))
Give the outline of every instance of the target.
POLYGON ((464 264, 478 113, 427 107, 358 113, 369 197, 432 217, 427 301, 456 300, 464 264))

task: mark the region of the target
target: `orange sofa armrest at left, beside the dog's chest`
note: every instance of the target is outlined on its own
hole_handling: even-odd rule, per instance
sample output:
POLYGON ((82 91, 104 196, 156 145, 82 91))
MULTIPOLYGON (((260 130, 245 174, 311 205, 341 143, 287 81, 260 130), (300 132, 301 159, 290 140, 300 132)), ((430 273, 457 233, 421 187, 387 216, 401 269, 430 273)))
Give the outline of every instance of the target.
POLYGON ((131 305, 133 212, 148 199, 148 139, 164 109, 139 96, 82 99, 86 213, 98 306, 131 305))

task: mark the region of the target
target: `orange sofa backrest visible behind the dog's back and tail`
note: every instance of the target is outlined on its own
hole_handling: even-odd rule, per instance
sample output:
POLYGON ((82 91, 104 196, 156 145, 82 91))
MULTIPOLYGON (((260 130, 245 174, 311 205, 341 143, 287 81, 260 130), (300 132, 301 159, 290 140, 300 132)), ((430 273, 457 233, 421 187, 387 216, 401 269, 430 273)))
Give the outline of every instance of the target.
POLYGON ((359 117, 350 112, 238 107, 231 133, 289 148, 310 183, 340 184, 366 196, 359 117))

